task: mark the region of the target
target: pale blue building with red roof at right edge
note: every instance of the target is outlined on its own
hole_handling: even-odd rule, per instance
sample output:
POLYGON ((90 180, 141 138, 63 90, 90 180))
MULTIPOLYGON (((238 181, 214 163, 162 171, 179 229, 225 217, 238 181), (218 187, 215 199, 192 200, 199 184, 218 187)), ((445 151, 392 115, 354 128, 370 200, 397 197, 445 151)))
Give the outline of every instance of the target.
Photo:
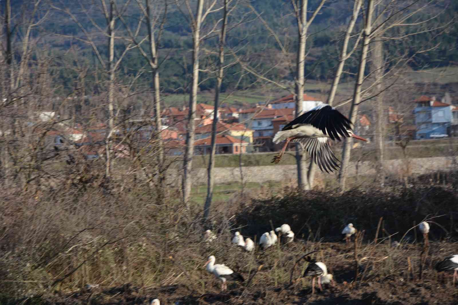
POLYGON ((442 103, 436 97, 420 96, 414 100, 415 139, 429 139, 431 133, 454 135, 458 124, 458 107, 442 103))

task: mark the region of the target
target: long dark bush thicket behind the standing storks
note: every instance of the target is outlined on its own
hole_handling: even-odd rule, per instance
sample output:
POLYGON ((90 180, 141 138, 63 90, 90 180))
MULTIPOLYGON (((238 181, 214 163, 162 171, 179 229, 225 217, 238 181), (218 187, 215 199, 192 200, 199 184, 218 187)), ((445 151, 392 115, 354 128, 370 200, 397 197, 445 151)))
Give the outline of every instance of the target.
MULTIPOLYGON (((434 221, 447 230, 452 228, 456 235, 453 218, 458 218, 457 211, 456 191, 438 186, 354 189, 344 193, 290 190, 284 196, 253 200, 239 213, 237 223, 247 226, 249 232, 245 234, 258 236, 270 230, 270 220, 274 226, 289 223, 298 237, 304 234, 307 239, 318 233, 326 240, 341 239, 344 226, 354 223, 357 229, 365 230, 366 238, 373 239, 379 218, 383 217, 384 235, 398 233, 393 239, 399 240, 414 223, 438 215, 445 216, 434 218, 434 221)), ((446 233, 431 225, 433 238, 446 237, 446 233)), ((380 236, 382 234, 381 231, 380 236)))

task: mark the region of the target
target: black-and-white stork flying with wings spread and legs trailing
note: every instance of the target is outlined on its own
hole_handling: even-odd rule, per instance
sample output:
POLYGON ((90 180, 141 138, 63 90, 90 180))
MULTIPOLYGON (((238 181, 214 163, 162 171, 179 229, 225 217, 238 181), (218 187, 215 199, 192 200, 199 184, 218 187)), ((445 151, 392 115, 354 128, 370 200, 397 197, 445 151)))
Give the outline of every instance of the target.
POLYGON ((352 122, 335 108, 328 104, 319 105, 301 114, 275 134, 275 144, 284 140, 286 142, 272 163, 280 162, 289 142, 301 142, 322 171, 332 172, 333 169, 339 168, 339 160, 331 150, 329 139, 340 141, 341 137, 353 137, 367 142, 365 138, 353 133, 352 125, 352 122))

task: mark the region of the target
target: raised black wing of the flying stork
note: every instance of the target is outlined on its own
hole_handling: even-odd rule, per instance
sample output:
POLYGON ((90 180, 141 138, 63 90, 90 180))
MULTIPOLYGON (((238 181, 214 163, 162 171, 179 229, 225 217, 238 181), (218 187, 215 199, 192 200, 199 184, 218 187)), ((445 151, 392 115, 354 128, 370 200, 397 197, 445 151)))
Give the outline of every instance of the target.
POLYGON ((301 114, 284 126, 282 131, 293 129, 293 126, 297 124, 310 124, 332 140, 337 139, 338 141, 341 137, 349 136, 347 129, 352 130, 351 121, 329 105, 301 114))

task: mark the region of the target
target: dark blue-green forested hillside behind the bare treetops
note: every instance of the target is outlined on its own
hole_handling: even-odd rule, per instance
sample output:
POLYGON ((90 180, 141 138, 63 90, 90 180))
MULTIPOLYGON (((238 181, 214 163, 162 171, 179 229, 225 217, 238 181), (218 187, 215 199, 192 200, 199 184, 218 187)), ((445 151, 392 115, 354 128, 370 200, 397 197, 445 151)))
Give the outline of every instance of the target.
MULTIPOLYGON (((12 15, 16 17, 13 19, 15 23, 13 30, 17 32, 15 43, 19 43, 24 37, 22 32, 25 30, 21 27, 21 18, 27 18, 34 8, 31 1, 12 2, 12 15)), ((195 2, 196 0, 190 1, 191 8, 196 6, 195 2)), ((309 11, 312 11, 319 2, 319 0, 310 0, 309 11)), ((458 2, 452 0, 430 2, 432 4, 421 12, 424 15, 423 20, 431 18, 426 24, 421 23, 413 27, 393 27, 382 38, 388 39, 390 35, 399 36, 400 34, 408 37, 409 34, 422 32, 384 45, 385 51, 389 54, 409 54, 412 57, 409 60, 409 66, 412 69, 458 64, 458 26, 454 20, 457 17, 458 2), (421 48, 424 51, 415 54, 421 48)), ((170 1, 166 7, 164 1, 153 1, 152 3, 154 6, 152 11, 157 18, 156 33, 159 28, 163 28, 161 37, 158 39, 161 87, 165 93, 186 91, 189 82, 186 75, 189 75, 191 71, 190 50, 192 48, 192 34, 188 17, 183 7, 179 8, 175 1, 170 1)), ((256 65, 258 71, 264 71, 269 78, 292 80, 293 74, 290 67, 277 56, 279 52, 277 41, 267 30, 266 24, 253 12, 253 10, 256 11, 267 22, 268 26, 278 35, 278 40, 291 53, 291 58, 294 58, 297 47, 297 25, 291 1, 257 0, 251 2, 252 8, 248 4, 248 1, 239 1, 231 13, 226 42, 228 49, 236 51, 238 56, 243 57, 245 61, 256 65), (272 66, 273 62, 276 63, 275 66, 272 66)), ((342 31, 351 14, 351 6, 349 0, 328 1, 311 24, 306 45, 308 56, 305 75, 308 79, 325 81, 333 76, 334 67, 338 63, 342 31)), ((119 37, 114 45, 115 57, 122 54, 128 44, 129 35, 126 26, 135 32, 138 21, 143 18, 143 13, 136 1, 117 1, 116 7, 123 19, 115 19, 116 34, 119 37)), ((414 5, 410 9, 417 8, 414 5)), ((2 10, 4 11, 4 8, 2 10)), ((56 57, 60 62, 60 66, 54 72, 54 76, 62 83, 59 91, 70 93, 73 90, 74 82, 78 78, 76 71, 78 65, 87 65, 89 73, 86 80, 89 81, 87 83, 90 86, 91 83, 94 83, 91 80, 94 81, 96 77, 91 72, 100 67, 97 67, 97 57, 91 44, 83 41, 87 40, 83 29, 90 33, 93 44, 97 46, 101 57, 106 58, 108 52, 107 38, 104 36, 107 22, 98 1, 53 0, 49 2, 49 5, 40 3, 38 10, 39 13, 33 18, 38 19, 40 16, 48 15, 43 22, 33 28, 32 35, 39 39, 37 44, 43 46, 41 50, 44 53, 56 57), (73 19, 66 13, 67 10, 73 14, 73 19), (75 58, 79 60, 78 63, 75 62, 75 58)), ((220 17, 220 13, 215 12, 213 16, 206 19, 202 28, 210 29, 220 17)), ((416 14, 409 22, 414 23, 421 18, 422 16, 416 14)), ((361 16, 358 22, 362 22, 361 16)), ((137 37, 140 39, 146 35, 145 28, 140 27, 137 37)), ((142 44, 147 48, 147 41, 143 41, 142 44)), ((204 41, 201 59, 204 65, 203 70, 211 70, 215 58, 215 53, 212 52, 215 51, 216 44, 217 38, 214 34, 204 41)), ((252 74, 245 74, 239 81, 240 65, 237 65, 230 56, 227 57, 227 61, 234 65, 229 66, 225 72, 223 92, 228 87, 240 89, 256 82, 256 77, 252 74)), ((346 77, 353 77, 352 73, 356 71, 356 68, 357 61, 348 60, 346 71, 349 73, 344 74, 343 80, 345 81, 346 77)), ((138 49, 133 48, 120 62, 118 75, 126 82, 129 82, 131 77, 138 76, 137 82, 142 83, 146 82, 149 77, 147 72, 147 61, 138 49), (137 74, 141 71, 142 75, 138 76, 137 74)), ((215 79, 212 75, 201 77, 202 82, 199 85, 201 90, 214 87, 215 79)), ((88 89, 95 93, 100 90, 97 87, 88 89)))

